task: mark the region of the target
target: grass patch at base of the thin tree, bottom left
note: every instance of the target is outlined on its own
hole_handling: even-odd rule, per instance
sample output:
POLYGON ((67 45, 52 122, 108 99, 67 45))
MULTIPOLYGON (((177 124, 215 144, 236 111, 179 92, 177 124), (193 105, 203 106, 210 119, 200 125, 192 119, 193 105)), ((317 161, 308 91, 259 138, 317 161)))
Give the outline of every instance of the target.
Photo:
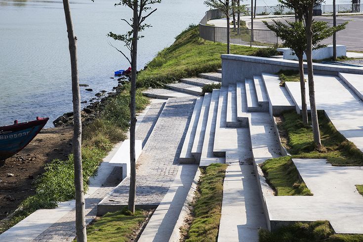
POLYGON ((137 236, 140 226, 148 217, 148 212, 136 209, 131 214, 126 208, 122 211, 106 213, 87 227, 87 241, 128 242, 137 236))

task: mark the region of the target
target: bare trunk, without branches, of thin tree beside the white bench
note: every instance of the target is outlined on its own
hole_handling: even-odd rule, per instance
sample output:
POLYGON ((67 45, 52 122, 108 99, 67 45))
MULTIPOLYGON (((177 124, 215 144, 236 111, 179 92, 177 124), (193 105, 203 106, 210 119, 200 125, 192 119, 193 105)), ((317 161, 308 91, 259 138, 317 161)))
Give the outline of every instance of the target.
POLYGON ((133 39, 131 53, 131 90, 130 90, 130 190, 128 195, 128 210, 135 212, 136 198, 136 155, 135 155, 135 129, 136 129, 136 71, 137 71, 137 36, 138 25, 138 0, 133 2, 133 39))

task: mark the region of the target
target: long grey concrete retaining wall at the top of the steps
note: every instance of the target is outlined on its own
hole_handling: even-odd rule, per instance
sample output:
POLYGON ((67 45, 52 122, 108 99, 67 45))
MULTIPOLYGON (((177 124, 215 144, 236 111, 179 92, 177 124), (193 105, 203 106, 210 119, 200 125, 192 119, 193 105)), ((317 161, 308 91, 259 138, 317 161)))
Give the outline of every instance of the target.
MULTIPOLYGON (((299 64, 293 60, 283 60, 247 55, 221 55, 222 58, 222 86, 236 84, 238 81, 253 78, 254 75, 261 76, 261 73, 277 73, 280 70, 298 70, 299 64)), ((314 73, 337 76, 341 73, 361 74, 363 68, 336 66, 314 63, 314 73)), ((306 71, 307 64, 304 62, 306 71)))

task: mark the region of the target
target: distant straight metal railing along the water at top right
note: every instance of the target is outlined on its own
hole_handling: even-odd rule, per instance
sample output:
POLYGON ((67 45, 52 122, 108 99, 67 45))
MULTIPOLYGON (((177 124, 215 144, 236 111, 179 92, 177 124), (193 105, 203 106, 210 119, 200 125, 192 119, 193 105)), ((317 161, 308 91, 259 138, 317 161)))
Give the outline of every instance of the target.
MULTIPOLYGON (((337 13, 348 12, 363 12, 363 3, 352 4, 335 4, 337 13)), ((251 12, 251 6, 246 6, 247 12, 251 12)), ((332 4, 322 4, 322 13, 332 13, 332 4)), ((294 14, 294 11, 290 8, 277 6, 256 6, 256 15, 282 15, 282 14, 294 14)))

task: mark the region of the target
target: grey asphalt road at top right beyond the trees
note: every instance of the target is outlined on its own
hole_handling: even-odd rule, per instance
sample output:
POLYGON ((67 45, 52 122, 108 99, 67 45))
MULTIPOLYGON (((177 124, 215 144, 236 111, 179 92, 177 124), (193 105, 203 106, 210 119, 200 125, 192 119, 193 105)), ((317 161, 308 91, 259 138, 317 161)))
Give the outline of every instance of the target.
MULTIPOLYGON (((294 21, 294 18, 275 18, 276 20, 289 20, 294 21)), ((253 23, 254 29, 267 29, 262 23, 265 20, 272 23, 272 19, 255 19, 253 23)), ((332 16, 317 16, 315 20, 326 21, 331 26, 333 25, 332 16)), ((337 24, 349 22, 346 29, 337 33, 337 44, 343 44, 347 46, 348 50, 363 51, 363 15, 345 15, 337 16, 337 24)), ((249 25, 250 26, 250 25, 249 25)), ((325 44, 332 44, 332 38, 324 40, 325 44)))

